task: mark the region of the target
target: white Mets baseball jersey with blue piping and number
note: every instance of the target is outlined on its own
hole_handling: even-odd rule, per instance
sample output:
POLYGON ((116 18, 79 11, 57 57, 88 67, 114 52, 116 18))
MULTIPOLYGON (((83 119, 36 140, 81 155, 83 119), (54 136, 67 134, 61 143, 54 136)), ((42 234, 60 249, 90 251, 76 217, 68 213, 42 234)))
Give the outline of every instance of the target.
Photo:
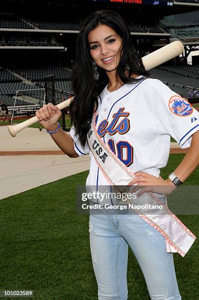
MULTIPOLYGON (((160 80, 144 78, 124 84, 99 96, 96 128, 106 145, 133 173, 159 176, 167 165, 170 136, 180 148, 190 147, 192 134, 199 130, 199 112, 160 80)), ((82 147, 73 126, 70 135, 78 155, 90 153, 91 166, 86 185, 109 185, 89 151, 82 147)))

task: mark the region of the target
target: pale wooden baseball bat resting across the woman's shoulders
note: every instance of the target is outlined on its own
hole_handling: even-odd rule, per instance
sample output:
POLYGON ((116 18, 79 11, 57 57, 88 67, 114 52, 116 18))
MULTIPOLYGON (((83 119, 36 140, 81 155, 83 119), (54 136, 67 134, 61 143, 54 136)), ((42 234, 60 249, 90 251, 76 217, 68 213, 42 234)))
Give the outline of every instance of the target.
MULTIPOLYGON (((168 44, 167 46, 164 46, 156 51, 151 52, 150 54, 144 56, 142 58, 143 64, 145 66, 145 69, 148 71, 152 68, 155 68, 164 62, 180 55, 184 50, 184 47, 181 42, 175 41, 171 44, 168 44)), ((73 100, 73 97, 65 100, 59 104, 57 104, 57 107, 59 109, 63 109, 67 106, 69 106, 70 102, 73 100)), ((24 128, 38 122, 39 119, 35 116, 31 119, 26 120, 23 123, 17 124, 17 125, 9 125, 8 131, 10 134, 15 137, 17 132, 23 130, 24 128)))

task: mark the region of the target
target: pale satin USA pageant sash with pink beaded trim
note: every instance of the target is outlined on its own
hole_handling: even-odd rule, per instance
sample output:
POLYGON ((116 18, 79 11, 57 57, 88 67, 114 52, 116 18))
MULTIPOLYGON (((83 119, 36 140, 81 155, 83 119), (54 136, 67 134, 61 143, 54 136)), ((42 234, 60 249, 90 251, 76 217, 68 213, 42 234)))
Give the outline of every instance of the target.
MULTIPOLYGON (((135 178, 135 175, 103 143, 96 130, 95 119, 96 114, 93 116, 87 136, 90 150, 109 184, 120 187, 120 190, 123 190, 121 186, 124 186, 124 189, 126 189, 127 184, 135 178), (117 174, 120 174, 120 176, 117 174)), ((167 252, 178 252, 181 256, 187 253, 196 236, 169 210, 167 202, 163 204, 153 193, 145 193, 133 200, 133 203, 137 205, 149 203, 156 205, 156 207, 159 205, 159 208, 153 211, 147 208, 133 208, 133 210, 165 237, 167 252)))

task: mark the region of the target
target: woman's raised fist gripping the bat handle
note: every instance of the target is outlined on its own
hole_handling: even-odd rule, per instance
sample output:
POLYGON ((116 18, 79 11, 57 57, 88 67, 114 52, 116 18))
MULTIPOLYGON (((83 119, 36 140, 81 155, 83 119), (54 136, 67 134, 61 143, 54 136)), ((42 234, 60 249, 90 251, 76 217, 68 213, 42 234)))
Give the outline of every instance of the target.
POLYGON ((47 130, 53 131, 57 128, 57 121, 61 117, 61 110, 52 103, 44 104, 35 115, 39 119, 39 123, 47 130))

